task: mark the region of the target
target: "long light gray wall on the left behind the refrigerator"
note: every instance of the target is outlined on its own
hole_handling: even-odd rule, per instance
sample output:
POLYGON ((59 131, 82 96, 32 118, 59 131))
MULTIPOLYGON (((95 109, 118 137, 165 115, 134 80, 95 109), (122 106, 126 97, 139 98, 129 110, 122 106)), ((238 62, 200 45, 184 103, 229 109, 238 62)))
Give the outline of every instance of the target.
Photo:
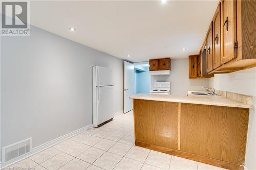
POLYGON ((1 147, 33 147, 92 124, 92 66, 114 71, 114 111, 123 109, 123 61, 31 26, 1 37, 1 147))

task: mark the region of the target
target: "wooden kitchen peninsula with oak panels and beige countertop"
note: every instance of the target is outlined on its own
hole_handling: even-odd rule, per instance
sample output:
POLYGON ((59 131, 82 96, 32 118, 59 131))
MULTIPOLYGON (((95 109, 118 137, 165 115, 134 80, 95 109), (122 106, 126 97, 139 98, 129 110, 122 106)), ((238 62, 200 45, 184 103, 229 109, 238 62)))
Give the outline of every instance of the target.
POLYGON ((132 95, 135 145, 243 169, 249 108, 224 96, 132 95))

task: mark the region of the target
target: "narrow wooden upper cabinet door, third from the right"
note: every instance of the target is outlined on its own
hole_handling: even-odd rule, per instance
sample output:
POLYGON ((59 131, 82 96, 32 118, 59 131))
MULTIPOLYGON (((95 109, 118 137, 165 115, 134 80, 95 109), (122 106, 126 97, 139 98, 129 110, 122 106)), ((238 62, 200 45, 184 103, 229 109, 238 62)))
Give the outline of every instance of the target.
POLYGON ((206 50, 206 71, 210 72, 213 69, 212 62, 212 22, 210 24, 210 28, 207 33, 206 40, 207 50, 206 50))

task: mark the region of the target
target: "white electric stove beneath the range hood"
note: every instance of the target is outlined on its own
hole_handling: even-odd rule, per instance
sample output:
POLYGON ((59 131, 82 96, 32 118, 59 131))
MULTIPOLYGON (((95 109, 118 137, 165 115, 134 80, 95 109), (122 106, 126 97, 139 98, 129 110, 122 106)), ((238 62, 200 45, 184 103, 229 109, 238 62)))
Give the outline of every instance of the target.
POLYGON ((152 94, 170 94, 170 82, 155 82, 154 87, 150 90, 152 94))

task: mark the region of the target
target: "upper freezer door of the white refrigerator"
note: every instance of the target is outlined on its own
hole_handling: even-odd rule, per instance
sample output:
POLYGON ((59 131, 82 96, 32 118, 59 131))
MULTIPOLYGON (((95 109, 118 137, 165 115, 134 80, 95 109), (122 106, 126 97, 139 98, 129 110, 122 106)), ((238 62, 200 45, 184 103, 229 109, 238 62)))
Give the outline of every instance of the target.
POLYGON ((96 66, 97 70, 97 86, 110 86, 113 85, 112 69, 106 67, 96 66))

